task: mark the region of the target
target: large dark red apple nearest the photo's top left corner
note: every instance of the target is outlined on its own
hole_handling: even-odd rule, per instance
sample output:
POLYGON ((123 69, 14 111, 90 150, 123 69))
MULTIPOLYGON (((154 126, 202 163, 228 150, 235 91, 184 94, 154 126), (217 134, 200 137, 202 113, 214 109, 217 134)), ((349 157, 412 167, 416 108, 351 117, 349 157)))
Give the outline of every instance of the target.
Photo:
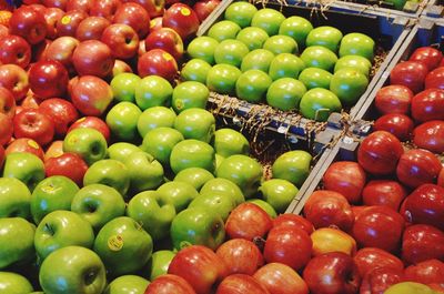
POLYGON ((9 32, 22 37, 30 44, 40 43, 47 36, 43 13, 27 6, 18 8, 9 20, 9 32))

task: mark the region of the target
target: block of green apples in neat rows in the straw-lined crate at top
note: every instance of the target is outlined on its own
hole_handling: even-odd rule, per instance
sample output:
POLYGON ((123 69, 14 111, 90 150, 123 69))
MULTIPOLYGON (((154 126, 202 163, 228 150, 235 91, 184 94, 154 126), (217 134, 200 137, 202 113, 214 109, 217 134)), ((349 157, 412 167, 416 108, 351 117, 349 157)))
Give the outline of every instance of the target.
POLYGON ((190 42, 183 80, 211 91, 325 121, 365 92, 374 41, 301 17, 235 2, 208 36, 190 42), (301 54, 299 55, 299 52, 301 54), (337 59, 337 55, 340 59, 337 59))

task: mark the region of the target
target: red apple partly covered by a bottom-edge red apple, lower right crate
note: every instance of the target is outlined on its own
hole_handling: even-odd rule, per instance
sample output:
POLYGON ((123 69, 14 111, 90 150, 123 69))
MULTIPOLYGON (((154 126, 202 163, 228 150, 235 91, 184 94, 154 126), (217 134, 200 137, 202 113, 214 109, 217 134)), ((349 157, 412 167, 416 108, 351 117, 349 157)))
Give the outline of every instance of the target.
POLYGON ((376 267, 390 267, 396 271, 404 270, 404 264, 400 258, 385 250, 376 247, 359 250, 353 260, 362 277, 376 267))

